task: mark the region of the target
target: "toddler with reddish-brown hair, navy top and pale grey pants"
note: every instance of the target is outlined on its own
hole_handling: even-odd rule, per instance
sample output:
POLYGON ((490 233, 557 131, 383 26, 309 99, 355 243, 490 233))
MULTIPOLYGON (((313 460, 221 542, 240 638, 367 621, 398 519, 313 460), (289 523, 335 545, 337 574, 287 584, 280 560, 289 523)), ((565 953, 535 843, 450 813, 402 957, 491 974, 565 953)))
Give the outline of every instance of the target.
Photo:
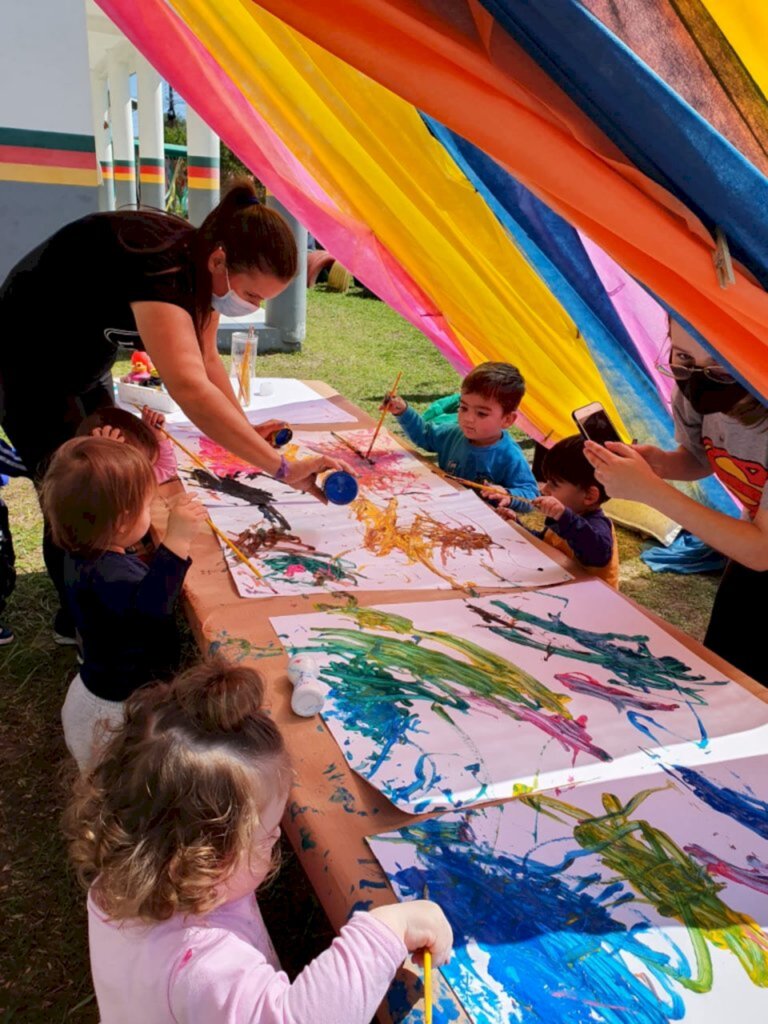
POLYGON ((102 724, 122 721, 126 698, 178 668, 174 611, 206 511, 187 495, 175 499, 147 565, 130 549, 150 529, 156 492, 146 456, 109 437, 67 441, 43 479, 43 511, 66 552, 66 594, 82 642, 83 664, 61 709, 81 770, 102 724))

